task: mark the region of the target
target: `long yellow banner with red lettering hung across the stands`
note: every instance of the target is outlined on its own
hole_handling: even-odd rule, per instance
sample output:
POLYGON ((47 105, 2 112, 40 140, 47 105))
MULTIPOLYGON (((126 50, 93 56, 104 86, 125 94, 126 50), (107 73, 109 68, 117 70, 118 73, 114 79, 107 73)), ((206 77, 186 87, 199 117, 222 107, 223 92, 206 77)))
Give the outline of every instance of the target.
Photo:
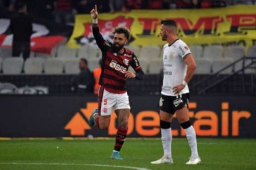
MULTIPOLYGON (((236 5, 226 8, 193 10, 134 10, 130 13, 99 14, 100 32, 112 41, 116 26, 131 30, 130 45, 164 45, 158 36, 161 20, 173 19, 178 26, 178 36, 189 45, 256 44, 256 6, 236 5)), ((73 34, 68 42, 70 48, 95 44, 90 15, 77 15, 73 34)))

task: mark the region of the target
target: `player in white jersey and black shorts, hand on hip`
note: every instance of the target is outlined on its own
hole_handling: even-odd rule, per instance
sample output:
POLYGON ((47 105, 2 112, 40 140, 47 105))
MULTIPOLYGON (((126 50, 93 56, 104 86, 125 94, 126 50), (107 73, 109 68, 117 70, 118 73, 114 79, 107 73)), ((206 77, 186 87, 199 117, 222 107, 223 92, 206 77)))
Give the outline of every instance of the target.
POLYGON ((171 154, 171 122, 176 113, 177 119, 187 134, 191 157, 187 165, 199 164, 195 130, 189 120, 189 87, 187 83, 196 69, 194 58, 185 42, 178 39, 177 26, 173 20, 164 20, 160 35, 167 44, 163 47, 163 86, 160 98, 161 140, 164 150, 162 158, 151 164, 173 163, 171 154))

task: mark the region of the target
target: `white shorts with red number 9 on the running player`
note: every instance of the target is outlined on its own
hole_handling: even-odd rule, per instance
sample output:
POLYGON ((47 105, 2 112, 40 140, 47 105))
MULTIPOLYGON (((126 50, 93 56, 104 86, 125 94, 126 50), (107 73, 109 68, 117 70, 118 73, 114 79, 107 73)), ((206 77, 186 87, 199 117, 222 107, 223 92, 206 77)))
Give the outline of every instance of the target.
POLYGON ((112 109, 131 109, 127 92, 122 94, 110 93, 102 86, 99 88, 98 111, 101 116, 111 115, 112 109))

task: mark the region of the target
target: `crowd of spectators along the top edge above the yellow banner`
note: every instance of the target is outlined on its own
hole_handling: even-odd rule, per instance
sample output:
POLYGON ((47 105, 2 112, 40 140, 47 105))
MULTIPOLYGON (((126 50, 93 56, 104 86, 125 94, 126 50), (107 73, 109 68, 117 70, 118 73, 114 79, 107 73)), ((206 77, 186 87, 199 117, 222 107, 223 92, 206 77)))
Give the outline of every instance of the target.
MULTIPOLYGON (((15 10, 21 0, 0 0, 0 6, 15 10)), ((216 8, 234 4, 255 4, 255 0, 22 0, 30 15, 56 22, 72 23, 75 14, 88 14, 94 4, 100 13, 129 12, 133 9, 216 8)))

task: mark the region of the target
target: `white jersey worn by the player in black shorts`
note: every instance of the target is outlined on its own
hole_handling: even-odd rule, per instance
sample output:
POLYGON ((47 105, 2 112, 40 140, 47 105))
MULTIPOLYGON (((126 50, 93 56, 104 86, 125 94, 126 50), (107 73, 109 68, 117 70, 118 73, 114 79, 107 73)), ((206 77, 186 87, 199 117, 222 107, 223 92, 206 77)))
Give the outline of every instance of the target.
MULTIPOLYGON (((173 93, 173 87, 182 84, 187 74, 187 64, 184 57, 191 51, 187 44, 180 39, 175 40, 171 45, 165 44, 163 47, 163 86, 161 94, 167 96, 176 96, 173 93)), ((189 87, 186 85, 179 94, 189 93, 189 87)))

